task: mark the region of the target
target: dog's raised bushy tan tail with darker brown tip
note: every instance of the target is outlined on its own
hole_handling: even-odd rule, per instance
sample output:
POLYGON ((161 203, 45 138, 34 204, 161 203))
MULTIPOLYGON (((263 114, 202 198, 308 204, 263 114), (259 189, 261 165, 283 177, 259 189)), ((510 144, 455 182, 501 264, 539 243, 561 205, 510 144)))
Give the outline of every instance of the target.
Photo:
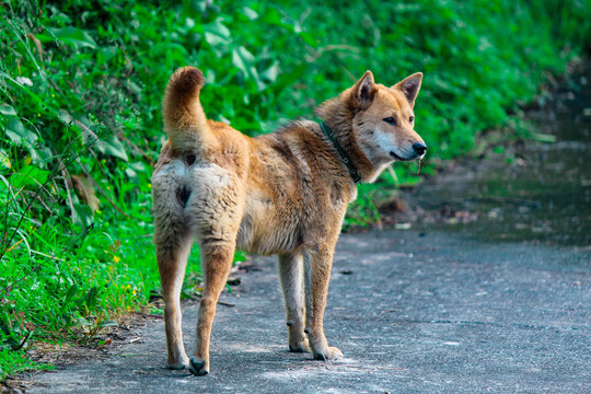
POLYGON ((164 131, 175 150, 202 149, 211 138, 199 102, 204 82, 204 73, 190 66, 179 68, 169 80, 162 102, 162 115, 164 131))

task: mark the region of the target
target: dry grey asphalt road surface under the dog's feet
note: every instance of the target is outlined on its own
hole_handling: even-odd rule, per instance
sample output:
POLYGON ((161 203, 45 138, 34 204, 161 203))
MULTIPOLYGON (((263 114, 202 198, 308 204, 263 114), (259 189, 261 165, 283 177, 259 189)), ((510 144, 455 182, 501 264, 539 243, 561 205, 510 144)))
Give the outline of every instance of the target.
MULTIPOLYGON (((222 301, 211 372, 164 368, 164 325, 30 393, 591 393, 591 248, 468 233, 341 235, 325 317, 335 362, 291 354, 275 258, 222 301)), ((184 310, 187 351, 197 306, 184 310)))

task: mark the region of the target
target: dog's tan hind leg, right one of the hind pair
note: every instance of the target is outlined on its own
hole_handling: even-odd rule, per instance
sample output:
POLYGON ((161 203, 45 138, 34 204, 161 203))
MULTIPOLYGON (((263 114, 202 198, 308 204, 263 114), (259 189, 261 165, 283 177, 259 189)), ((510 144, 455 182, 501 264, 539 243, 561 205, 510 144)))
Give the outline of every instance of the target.
POLYGON ((197 340, 195 354, 190 358, 189 370, 196 375, 209 373, 209 339, 216 316, 216 305, 228 280, 234 256, 234 244, 221 242, 201 245, 201 260, 205 270, 205 290, 199 303, 197 340))

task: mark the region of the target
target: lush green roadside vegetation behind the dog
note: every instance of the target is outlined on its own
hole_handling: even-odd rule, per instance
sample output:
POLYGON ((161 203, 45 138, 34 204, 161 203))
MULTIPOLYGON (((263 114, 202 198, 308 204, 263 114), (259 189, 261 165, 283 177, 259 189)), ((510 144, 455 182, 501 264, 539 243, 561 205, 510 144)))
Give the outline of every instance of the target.
MULTIPOLYGON (((383 83, 422 71, 426 174, 479 131, 523 132, 523 105, 591 36, 584 0, 0 0, 0 380, 42 368, 35 343, 95 344, 158 296, 150 176, 175 68, 198 66, 208 116, 251 136, 313 118, 367 69, 383 83)), ((346 225, 379 220, 417 172, 360 185, 346 225)))

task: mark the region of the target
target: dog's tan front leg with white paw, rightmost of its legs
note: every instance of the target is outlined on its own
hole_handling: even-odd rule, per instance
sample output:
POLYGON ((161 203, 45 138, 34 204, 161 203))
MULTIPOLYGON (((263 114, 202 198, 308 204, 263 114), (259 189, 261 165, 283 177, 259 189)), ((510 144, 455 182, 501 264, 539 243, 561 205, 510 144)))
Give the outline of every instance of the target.
POLYGON ((309 335, 314 359, 335 360, 343 357, 343 352, 336 347, 328 346, 323 326, 334 246, 308 252, 304 254, 305 332, 309 335))

